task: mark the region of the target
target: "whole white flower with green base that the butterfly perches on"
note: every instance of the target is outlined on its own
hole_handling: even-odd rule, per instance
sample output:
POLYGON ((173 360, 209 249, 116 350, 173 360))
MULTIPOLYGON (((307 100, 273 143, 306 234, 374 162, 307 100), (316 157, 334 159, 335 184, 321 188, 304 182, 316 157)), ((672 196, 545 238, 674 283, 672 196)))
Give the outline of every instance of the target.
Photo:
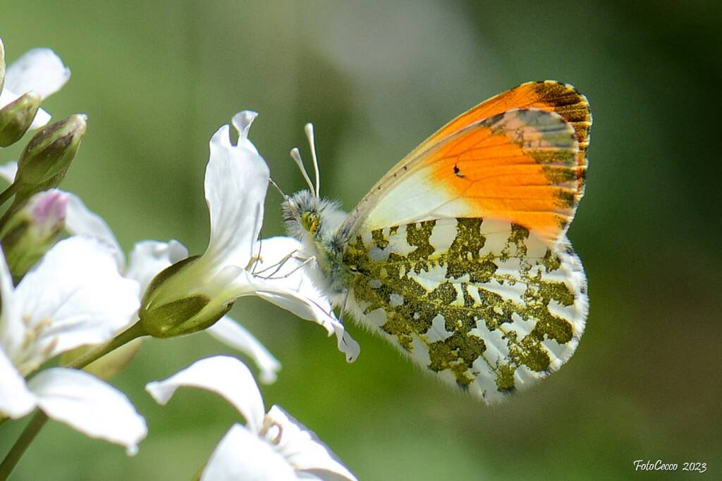
MULTIPOLYGON (((329 335, 335 333, 339 349, 352 361, 358 354, 357 343, 334 316, 326 296, 313 287, 300 260, 290 257, 298 244, 284 238, 256 242, 269 169, 248 140, 248 129, 255 117, 255 112, 248 111, 234 116, 233 125, 239 133, 236 145, 231 144, 228 125, 211 138, 205 178, 211 224, 208 247, 203 255, 151 288, 144 299, 141 320, 152 318, 154 309, 186 299, 207 299, 202 309, 188 319, 189 329, 193 329, 212 322, 240 296, 262 296, 300 317, 315 320, 326 327, 329 335), (275 269, 259 272, 259 265, 274 263, 279 264, 277 273, 275 269)), ((165 312, 163 317, 167 318, 165 312)), ((147 324, 147 330, 155 327, 152 321, 147 324)), ((173 335, 187 332, 184 325, 169 329, 173 335)), ((159 335, 164 335, 160 329, 159 335)))

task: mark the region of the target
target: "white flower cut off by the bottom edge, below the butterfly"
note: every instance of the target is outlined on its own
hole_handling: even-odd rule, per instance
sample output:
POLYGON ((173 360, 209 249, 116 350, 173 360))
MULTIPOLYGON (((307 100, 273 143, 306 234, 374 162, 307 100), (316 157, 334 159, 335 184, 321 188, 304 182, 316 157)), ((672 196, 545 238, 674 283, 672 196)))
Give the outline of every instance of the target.
POLYGON ((216 392, 243 415, 218 444, 201 480, 355 480, 336 456, 305 426, 277 406, 264 414, 264 402, 251 371, 238 359, 201 359, 146 389, 165 405, 181 386, 216 392))

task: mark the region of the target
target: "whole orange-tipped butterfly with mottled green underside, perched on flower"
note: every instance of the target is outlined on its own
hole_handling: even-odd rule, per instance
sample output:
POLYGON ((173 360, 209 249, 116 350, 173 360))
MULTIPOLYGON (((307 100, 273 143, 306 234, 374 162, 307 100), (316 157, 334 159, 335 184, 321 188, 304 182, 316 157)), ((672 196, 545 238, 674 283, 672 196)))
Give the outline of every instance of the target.
MULTIPOLYGON (((309 124, 310 125, 310 124, 309 124)), ((566 236, 584 193, 591 113, 558 81, 521 84, 459 115, 346 215, 286 196, 287 231, 335 306, 435 376, 486 402, 556 371, 588 312, 566 236)))

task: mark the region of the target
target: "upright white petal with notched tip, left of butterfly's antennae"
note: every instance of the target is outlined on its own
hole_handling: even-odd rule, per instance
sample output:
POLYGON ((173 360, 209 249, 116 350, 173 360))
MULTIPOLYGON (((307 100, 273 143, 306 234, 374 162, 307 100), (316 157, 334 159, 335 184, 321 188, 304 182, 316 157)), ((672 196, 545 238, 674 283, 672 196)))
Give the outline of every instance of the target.
POLYGON ((261 230, 269 168, 255 148, 248 147, 250 141, 232 145, 229 130, 223 125, 210 141, 205 191, 211 236, 203 257, 211 265, 245 268, 261 230))

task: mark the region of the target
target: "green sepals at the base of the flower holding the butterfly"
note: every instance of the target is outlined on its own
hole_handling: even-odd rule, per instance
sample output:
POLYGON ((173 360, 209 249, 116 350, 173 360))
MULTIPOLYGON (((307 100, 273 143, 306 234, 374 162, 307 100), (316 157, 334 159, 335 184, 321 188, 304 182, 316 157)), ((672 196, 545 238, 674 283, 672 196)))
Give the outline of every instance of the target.
POLYGON ((203 293, 186 293, 181 298, 169 292, 186 292, 179 288, 186 271, 199 256, 188 257, 162 270, 145 291, 138 312, 140 324, 153 337, 175 337, 211 327, 223 317, 233 303, 219 304, 203 293))

